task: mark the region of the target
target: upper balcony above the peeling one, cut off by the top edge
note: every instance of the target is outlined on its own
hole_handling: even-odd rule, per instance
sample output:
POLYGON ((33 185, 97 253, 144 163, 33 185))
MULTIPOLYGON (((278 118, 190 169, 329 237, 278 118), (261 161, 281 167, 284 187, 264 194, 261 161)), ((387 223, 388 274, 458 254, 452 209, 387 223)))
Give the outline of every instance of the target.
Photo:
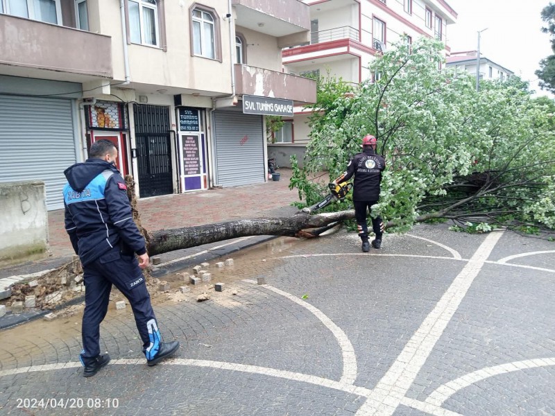
POLYGON ((299 0, 232 0, 235 24, 278 38, 285 48, 309 42, 310 10, 299 0))

